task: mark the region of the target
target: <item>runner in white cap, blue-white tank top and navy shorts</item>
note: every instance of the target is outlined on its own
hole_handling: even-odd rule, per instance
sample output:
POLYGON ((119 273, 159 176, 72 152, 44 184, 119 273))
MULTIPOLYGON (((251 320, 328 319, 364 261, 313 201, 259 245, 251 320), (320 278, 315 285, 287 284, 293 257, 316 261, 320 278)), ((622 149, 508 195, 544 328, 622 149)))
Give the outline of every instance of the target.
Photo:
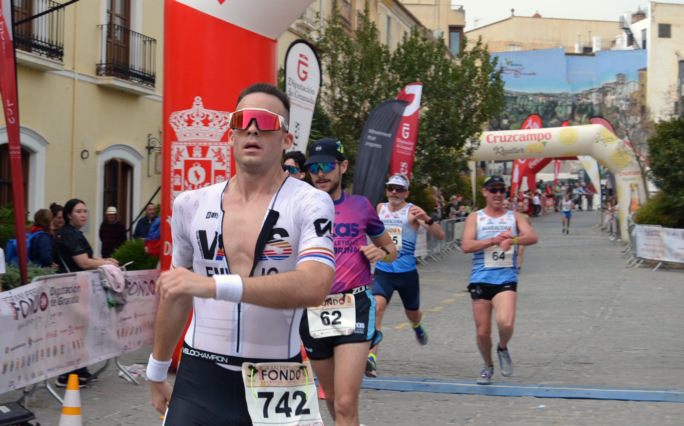
MULTIPOLYGON (((419 227, 423 226, 436 239, 444 239, 444 230, 428 213, 415 204, 406 202, 408 198, 408 178, 397 173, 385 184, 389 202, 376 207, 380 220, 389 235, 396 241, 399 257, 392 263, 376 263, 376 276, 373 280, 373 296, 376 298, 376 328, 381 329, 380 321, 395 291, 404 304, 406 317, 410 319, 416 339, 421 345, 428 344, 428 332, 421 324, 421 292, 418 270, 416 268, 416 240, 419 227)), ((366 362, 366 375, 378 377, 376 363, 378 345, 373 346, 366 362)))

